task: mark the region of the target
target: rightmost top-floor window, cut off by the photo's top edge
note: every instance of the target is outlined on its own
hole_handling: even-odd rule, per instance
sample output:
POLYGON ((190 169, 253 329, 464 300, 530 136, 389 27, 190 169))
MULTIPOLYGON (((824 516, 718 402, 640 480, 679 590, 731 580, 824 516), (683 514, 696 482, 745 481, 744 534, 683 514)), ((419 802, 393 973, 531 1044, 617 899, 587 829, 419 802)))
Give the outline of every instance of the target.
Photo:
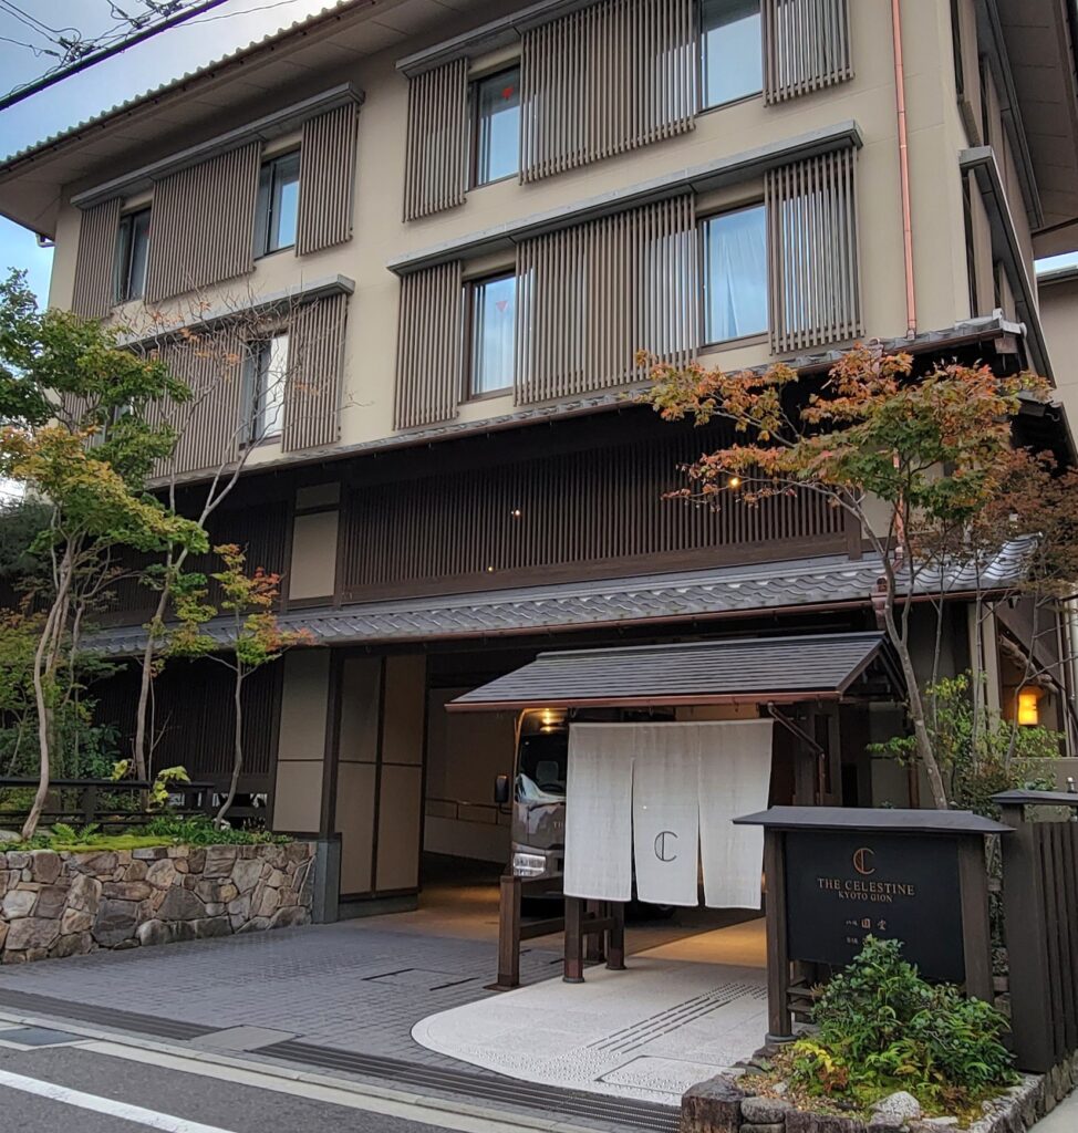
POLYGON ((702 0, 701 61, 704 109, 764 88, 761 0, 702 0))

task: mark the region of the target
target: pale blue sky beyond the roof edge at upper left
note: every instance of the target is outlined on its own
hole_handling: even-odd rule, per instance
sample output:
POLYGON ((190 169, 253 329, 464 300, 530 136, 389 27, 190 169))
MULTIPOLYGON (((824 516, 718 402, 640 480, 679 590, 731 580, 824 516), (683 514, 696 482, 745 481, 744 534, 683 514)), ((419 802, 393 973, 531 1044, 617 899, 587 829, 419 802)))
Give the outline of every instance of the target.
MULTIPOLYGON (((144 10, 141 0, 116 0, 127 12, 144 10)), ((11 0, 26 17, 19 19, 0 5, 0 93, 28 83, 56 60, 39 54, 50 46, 34 20, 62 29, 77 28, 83 37, 116 26, 112 0, 11 0), (10 41, 17 41, 15 43, 10 41)), ((229 0, 204 16, 162 32, 120 56, 73 75, 61 83, 0 111, 0 156, 10 155, 102 110, 179 78, 187 71, 261 40, 278 28, 333 6, 333 0, 229 0)), ((25 269, 29 284, 44 304, 49 295, 52 253, 39 248, 32 232, 0 216, 0 274, 25 269)))

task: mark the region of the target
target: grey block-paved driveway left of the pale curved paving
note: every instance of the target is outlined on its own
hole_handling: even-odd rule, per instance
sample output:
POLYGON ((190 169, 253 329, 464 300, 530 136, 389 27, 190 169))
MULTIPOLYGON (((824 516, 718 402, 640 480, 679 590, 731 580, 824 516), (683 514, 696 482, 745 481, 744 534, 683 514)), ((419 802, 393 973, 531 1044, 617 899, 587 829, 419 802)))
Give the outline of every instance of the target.
MULTIPOLYGON (((557 952, 521 955, 525 982, 558 974, 557 952)), ((256 932, 0 968, 23 991, 214 1028, 286 1031, 306 1042, 435 1066, 423 1017, 493 995, 491 940, 398 932, 364 921, 256 932)))

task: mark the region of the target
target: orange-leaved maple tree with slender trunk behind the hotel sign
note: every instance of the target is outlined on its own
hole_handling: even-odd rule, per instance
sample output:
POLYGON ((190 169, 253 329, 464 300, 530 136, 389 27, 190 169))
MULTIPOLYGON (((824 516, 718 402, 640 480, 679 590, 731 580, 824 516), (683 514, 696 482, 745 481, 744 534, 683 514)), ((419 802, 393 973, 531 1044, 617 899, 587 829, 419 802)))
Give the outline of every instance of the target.
POLYGON ((1075 476, 1013 443, 1024 399, 1046 399, 1047 385, 958 361, 915 376, 910 355, 875 344, 849 350, 822 378, 782 364, 727 374, 654 361, 651 376, 645 400, 667 420, 730 426, 674 495, 752 508, 813 494, 848 513, 878 556, 874 599, 905 680, 913 749, 934 804, 948 807, 925 696, 935 674, 918 681, 911 614, 926 595, 942 610, 956 579, 979 586, 1004 552, 1018 562, 1005 585, 1037 600, 1058 600, 1078 577, 1075 476))

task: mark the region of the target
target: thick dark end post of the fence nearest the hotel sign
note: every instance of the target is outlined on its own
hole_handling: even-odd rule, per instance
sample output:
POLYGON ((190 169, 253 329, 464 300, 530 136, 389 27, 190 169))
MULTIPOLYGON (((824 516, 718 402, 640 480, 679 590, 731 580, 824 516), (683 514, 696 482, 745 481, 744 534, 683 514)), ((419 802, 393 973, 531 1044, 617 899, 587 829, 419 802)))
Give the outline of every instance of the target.
POLYGON ((1042 875, 1033 826, 1025 807, 1001 807, 1015 833, 1003 843, 1003 931, 1011 993, 1011 1032, 1021 1070, 1043 1074, 1055 1062, 1052 1028, 1045 1017, 1049 987, 1042 875))

